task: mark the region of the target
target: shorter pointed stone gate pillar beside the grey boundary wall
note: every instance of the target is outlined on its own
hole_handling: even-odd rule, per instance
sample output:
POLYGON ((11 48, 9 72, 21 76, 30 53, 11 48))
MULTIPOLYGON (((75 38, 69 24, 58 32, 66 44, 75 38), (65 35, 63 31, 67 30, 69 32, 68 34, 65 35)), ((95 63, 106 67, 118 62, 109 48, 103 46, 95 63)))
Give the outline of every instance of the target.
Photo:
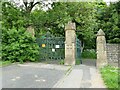
POLYGON ((97 33, 97 68, 107 65, 106 39, 105 33, 100 29, 97 33))

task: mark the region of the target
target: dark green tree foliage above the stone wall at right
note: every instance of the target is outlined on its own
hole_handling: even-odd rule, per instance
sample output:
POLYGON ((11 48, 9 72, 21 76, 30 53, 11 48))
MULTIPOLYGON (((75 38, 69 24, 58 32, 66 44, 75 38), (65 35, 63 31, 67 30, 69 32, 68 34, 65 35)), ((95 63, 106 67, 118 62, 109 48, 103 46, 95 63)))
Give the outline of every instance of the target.
POLYGON ((98 28, 103 29, 108 43, 120 43, 120 1, 101 6, 97 13, 98 28))

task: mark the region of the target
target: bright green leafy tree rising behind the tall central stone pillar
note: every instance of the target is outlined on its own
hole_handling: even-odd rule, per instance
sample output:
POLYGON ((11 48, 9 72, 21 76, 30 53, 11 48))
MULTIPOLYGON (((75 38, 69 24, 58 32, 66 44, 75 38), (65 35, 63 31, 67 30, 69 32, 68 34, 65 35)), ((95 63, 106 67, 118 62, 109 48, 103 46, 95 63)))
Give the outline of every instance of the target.
POLYGON ((97 24, 94 17, 94 5, 90 2, 53 3, 53 9, 48 11, 50 19, 47 25, 51 26, 51 32, 64 35, 65 24, 68 21, 75 22, 78 38, 86 48, 95 48, 94 29, 97 24))

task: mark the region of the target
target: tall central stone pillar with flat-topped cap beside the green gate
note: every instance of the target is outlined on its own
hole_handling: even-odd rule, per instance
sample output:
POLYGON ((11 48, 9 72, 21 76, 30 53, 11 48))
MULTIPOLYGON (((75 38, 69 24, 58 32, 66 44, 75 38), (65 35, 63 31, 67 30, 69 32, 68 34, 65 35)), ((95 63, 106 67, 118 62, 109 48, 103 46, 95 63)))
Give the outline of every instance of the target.
POLYGON ((75 65, 75 23, 68 22, 65 26, 65 65, 75 65))

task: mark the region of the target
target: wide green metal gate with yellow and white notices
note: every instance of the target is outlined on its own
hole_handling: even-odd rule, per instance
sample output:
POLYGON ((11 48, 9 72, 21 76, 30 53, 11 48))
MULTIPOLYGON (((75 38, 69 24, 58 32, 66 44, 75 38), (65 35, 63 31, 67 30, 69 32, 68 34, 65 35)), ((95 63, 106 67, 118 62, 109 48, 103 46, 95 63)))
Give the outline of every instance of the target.
POLYGON ((65 38, 55 37, 50 32, 37 38, 40 47, 40 60, 62 60, 65 58, 65 38))

